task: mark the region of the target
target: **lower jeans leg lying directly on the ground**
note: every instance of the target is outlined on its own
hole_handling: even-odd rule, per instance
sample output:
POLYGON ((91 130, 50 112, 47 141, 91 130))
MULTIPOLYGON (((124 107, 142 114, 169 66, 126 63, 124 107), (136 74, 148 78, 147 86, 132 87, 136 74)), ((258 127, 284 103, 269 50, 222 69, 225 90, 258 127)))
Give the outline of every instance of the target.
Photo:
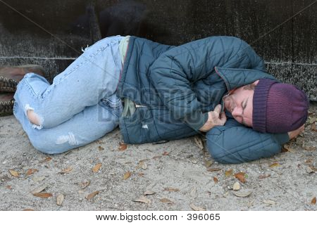
POLYGON ((120 98, 103 98, 56 127, 34 129, 23 108, 16 103, 13 113, 22 124, 32 145, 42 153, 57 154, 85 146, 118 126, 123 110, 120 98), (111 100, 115 99, 115 100, 111 100))

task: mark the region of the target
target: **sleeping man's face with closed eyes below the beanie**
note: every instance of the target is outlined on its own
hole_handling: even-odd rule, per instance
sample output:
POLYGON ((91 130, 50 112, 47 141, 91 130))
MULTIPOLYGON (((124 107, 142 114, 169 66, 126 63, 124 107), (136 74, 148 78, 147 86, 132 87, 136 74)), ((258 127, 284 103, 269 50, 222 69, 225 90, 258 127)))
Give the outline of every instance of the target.
POLYGON ((241 86, 224 99, 225 109, 237 122, 247 127, 252 127, 253 94, 254 90, 241 86))

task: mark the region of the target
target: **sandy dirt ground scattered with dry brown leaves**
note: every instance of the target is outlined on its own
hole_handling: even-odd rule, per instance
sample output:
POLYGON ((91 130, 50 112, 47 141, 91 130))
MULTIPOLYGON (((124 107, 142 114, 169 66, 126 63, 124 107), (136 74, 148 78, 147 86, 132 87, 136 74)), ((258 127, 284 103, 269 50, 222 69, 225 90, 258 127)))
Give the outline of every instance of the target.
POLYGON ((194 137, 123 150, 119 129, 45 155, 0 117, 0 210, 317 210, 316 109, 283 153, 240 165, 213 162, 194 137))

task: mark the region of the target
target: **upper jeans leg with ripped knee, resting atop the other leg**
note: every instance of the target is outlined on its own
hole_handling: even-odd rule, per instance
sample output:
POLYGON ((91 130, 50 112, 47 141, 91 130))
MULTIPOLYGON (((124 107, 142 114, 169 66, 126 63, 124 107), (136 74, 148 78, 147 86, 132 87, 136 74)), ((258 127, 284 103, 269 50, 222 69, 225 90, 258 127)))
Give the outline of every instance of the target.
POLYGON ((51 85, 39 75, 25 75, 14 98, 25 115, 32 109, 39 117, 33 128, 55 127, 115 93, 122 68, 120 39, 108 37, 90 46, 51 85))

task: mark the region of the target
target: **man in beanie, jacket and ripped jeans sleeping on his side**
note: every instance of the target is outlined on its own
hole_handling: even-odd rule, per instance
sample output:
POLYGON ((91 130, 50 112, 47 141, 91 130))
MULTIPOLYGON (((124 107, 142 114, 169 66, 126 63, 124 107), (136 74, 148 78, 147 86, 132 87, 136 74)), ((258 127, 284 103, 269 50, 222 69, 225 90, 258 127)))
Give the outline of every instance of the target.
POLYGON ((0 111, 13 110, 32 145, 49 154, 84 146, 119 124, 125 143, 206 132, 216 161, 248 162, 279 153, 304 129, 309 108, 303 91, 268 75, 251 46, 235 37, 181 46, 108 37, 52 84, 43 73, 1 68, 0 91, 16 91, 12 101, 13 94, 1 95, 8 101, 0 111))

